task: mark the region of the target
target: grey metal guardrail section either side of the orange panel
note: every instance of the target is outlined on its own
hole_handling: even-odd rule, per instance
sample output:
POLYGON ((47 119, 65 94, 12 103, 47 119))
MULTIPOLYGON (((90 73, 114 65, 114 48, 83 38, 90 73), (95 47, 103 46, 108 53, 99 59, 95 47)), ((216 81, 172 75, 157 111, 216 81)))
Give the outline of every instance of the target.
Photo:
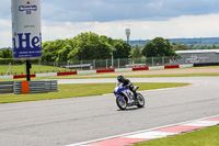
MULTIPOLYGON (((14 94, 22 93, 22 81, 14 81, 14 94)), ((34 80, 28 82, 30 93, 45 93, 58 91, 57 80, 34 80)))

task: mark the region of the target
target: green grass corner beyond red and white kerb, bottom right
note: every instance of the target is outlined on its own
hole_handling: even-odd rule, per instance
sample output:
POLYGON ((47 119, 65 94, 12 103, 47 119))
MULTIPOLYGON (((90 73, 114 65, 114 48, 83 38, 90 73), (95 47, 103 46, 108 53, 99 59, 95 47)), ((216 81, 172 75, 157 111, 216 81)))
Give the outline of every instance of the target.
POLYGON ((219 126, 192 133, 153 139, 134 146, 219 146, 219 126))

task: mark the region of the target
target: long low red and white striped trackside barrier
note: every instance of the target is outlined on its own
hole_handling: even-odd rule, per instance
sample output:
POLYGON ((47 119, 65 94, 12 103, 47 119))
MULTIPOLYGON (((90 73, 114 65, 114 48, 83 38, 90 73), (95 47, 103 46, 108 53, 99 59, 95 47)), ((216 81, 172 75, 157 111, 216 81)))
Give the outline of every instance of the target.
MULTIPOLYGON (((118 68, 118 69, 99 69, 99 70, 84 70, 84 71, 70 71, 70 72, 48 72, 48 74, 31 75, 31 77, 34 78, 34 77, 49 77, 49 76, 101 74, 101 72, 123 72, 123 71, 138 71, 138 70, 188 68, 188 67, 194 67, 194 65, 193 64, 186 64, 186 65, 171 65, 171 66, 135 67, 135 68, 118 68)), ((0 76, 0 79, 19 79, 19 78, 26 78, 26 75, 0 76)))

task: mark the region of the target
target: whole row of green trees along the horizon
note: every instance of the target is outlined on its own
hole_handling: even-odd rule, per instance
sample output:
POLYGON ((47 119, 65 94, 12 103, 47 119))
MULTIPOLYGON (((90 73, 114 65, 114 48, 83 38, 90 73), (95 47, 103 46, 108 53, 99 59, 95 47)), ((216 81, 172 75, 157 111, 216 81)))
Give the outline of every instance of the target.
MULTIPOLYGON (((189 46, 170 43, 169 40, 155 37, 143 47, 130 46, 123 40, 113 40, 92 32, 81 33, 73 38, 48 41, 42 44, 41 61, 93 60, 139 57, 180 57, 175 50, 186 50, 189 46)), ((210 47, 209 47, 210 49, 210 47)), ((12 49, 0 49, 0 58, 12 58, 12 49)))

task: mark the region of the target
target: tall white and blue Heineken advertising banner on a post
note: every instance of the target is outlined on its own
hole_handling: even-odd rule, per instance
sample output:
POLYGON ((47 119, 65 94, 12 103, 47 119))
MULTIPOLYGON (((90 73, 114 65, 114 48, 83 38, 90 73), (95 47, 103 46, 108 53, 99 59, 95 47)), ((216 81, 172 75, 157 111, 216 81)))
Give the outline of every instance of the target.
POLYGON ((12 48, 16 59, 42 57, 39 0, 11 0, 12 48))

